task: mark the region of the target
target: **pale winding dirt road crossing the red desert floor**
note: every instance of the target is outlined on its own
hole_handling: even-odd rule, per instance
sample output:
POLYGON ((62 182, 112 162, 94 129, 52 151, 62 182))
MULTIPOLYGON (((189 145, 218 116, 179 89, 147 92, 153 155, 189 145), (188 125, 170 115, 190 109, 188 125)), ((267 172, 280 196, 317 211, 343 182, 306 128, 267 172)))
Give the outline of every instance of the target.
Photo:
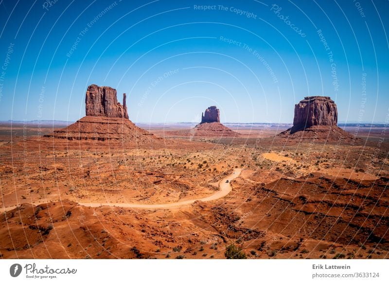
MULTIPOLYGON (((168 202, 168 203, 161 203, 161 204, 143 204, 143 203, 121 203, 121 202, 107 202, 107 203, 94 203, 94 202, 79 202, 78 204, 81 206, 87 206, 87 207, 101 207, 101 206, 113 206, 113 207, 124 207, 124 208, 139 208, 139 209, 169 209, 169 208, 177 208, 177 207, 183 207, 190 205, 194 203, 195 201, 212 201, 219 198, 222 198, 226 195, 228 195, 232 187, 230 185, 230 181, 239 177, 240 173, 242 172, 242 169, 234 169, 234 172, 225 178, 223 178, 219 182, 219 191, 214 193, 213 195, 205 196, 202 198, 196 198, 196 199, 189 199, 189 200, 183 200, 178 202, 168 202), (227 180, 229 182, 227 183, 227 180)), ((46 202, 34 202, 34 205, 42 204, 46 202)), ((9 211, 17 208, 18 205, 15 206, 9 206, 9 207, 2 207, 0 208, 0 212, 9 211)))

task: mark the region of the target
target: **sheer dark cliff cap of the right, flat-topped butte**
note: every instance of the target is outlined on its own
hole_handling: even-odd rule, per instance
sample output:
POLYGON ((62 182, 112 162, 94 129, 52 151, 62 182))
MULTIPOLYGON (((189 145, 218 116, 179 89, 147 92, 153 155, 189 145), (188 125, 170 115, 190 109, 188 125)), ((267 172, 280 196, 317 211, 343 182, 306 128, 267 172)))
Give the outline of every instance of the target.
POLYGON ((308 96, 295 105, 293 126, 296 128, 336 124, 336 104, 328 96, 308 96))

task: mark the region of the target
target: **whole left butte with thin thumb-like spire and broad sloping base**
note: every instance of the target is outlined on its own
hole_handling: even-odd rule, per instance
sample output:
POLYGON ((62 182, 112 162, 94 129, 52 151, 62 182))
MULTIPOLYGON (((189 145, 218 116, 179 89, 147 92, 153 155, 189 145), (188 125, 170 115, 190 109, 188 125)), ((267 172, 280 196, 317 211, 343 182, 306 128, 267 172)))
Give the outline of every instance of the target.
POLYGON ((123 105, 118 102, 116 89, 90 85, 85 97, 86 116, 66 128, 53 131, 46 138, 121 142, 141 145, 161 142, 128 119, 126 94, 123 105))

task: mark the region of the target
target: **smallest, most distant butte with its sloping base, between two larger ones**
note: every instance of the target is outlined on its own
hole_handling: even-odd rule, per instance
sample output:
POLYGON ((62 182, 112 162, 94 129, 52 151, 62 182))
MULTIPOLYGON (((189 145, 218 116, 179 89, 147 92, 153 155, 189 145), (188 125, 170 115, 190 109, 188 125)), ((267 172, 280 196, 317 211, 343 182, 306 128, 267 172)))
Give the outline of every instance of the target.
POLYGON ((191 129, 193 136, 203 137, 238 137, 239 133, 220 123, 220 110, 210 106, 201 114, 201 122, 191 129))

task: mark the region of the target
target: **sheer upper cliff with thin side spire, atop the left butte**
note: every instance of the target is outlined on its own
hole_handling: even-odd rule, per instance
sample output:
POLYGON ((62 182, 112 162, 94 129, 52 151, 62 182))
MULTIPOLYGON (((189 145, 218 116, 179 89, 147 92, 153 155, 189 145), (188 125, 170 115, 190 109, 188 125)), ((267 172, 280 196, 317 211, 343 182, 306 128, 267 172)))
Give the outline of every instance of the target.
POLYGON ((118 102, 116 89, 90 85, 85 97, 86 116, 104 116, 110 118, 128 119, 126 95, 123 95, 123 105, 118 102))

